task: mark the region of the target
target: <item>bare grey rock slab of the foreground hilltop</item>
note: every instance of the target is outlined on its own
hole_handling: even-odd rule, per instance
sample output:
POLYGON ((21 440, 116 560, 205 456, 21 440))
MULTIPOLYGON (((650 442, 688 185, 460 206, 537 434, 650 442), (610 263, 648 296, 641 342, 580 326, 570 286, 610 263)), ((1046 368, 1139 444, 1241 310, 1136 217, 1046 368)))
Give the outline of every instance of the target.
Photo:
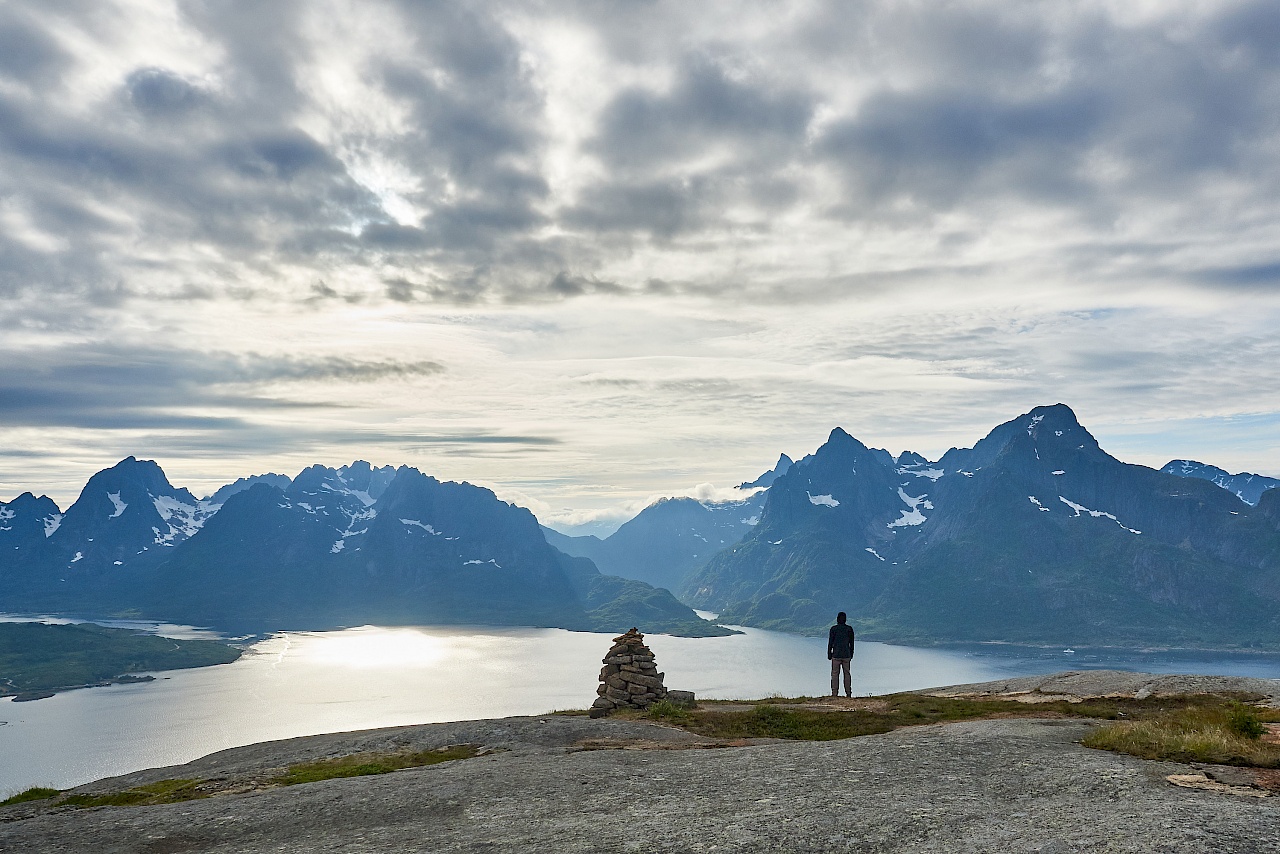
MULTIPOLYGON (((1130 676, 1089 676, 1098 681, 1088 689, 1133 695, 1167 679, 1124 681, 1130 676)), ((1009 680, 937 693, 1076 697, 1071 690, 1087 686, 1071 675, 1041 679, 1048 681, 1039 689, 1050 690, 1009 680)), ((1234 685, 1280 697, 1268 693, 1280 682, 1234 685)), ((1225 689, 1213 682, 1198 690, 1225 689)), ((988 720, 841 741, 728 744, 649 723, 557 716, 334 734, 236 748, 82 787, 118 791, 198 777, 221 780, 232 793, 215 798, 0 809, 0 850, 1276 850, 1280 798, 1171 785, 1170 775, 1203 769, 1088 750, 1079 740, 1091 726, 988 720), (296 762, 449 744, 483 745, 484 755, 261 787, 296 762)))

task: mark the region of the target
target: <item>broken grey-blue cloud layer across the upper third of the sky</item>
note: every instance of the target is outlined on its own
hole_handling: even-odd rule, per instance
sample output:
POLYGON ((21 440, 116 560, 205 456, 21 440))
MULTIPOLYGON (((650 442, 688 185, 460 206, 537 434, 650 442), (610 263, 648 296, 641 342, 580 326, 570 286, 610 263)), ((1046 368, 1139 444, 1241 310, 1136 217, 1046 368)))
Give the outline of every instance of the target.
MULTIPOLYGON (((1047 262, 1069 278, 1123 257, 1126 273, 1239 287, 1229 264, 1203 274, 1179 250, 1275 219, 1274 3, 1121 20, 1080 3, 832 0, 768 27, 737 26, 773 14, 750 5, 716 13, 716 27, 700 8, 663 3, 512 8, 379 0, 362 14, 394 27, 397 44, 383 45, 298 0, 191 0, 178 26, 218 59, 204 72, 161 52, 110 65, 101 73, 116 78, 96 82, 111 93, 97 96, 77 91, 97 58, 65 33, 110 54, 132 13, 5 5, 0 200, 22 227, 0 229, 0 293, 90 306, 143 294, 517 302, 596 292, 566 283, 611 279, 639 252, 732 256, 744 237, 792 239, 771 237, 788 216, 814 230, 906 229, 911 251, 946 246, 931 229, 955 211, 970 218, 968 247, 1027 211, 1060 218, 1070 233, 1047 262), (524 41, 511 23, 521 15, 598 38, 594 111, 549 101, 545 45, 524 41), (347 29, 347 42, 330 38, 347 29), (317 72, 334 68, 385 105, 379 120, 342 105, 317 72), (570 191, 549 164, 573 157, 570 191), (369 178, 383 168, 396 204, 369 178), (1155 204, 1176 228, 1139 270, 1111 241, 1155 204), (325 277, 334 294, 285 291, 287 268, 325 277), (357 293, 344 284, 353 268, 351 279, 390 284, 357 293)), ((768 291, 751 287, 750 265, 735 270, 733 283, 617 284, 768 291)), ((833 286, 846 273, 781 279, 826 298, 856 289, 833 286)))

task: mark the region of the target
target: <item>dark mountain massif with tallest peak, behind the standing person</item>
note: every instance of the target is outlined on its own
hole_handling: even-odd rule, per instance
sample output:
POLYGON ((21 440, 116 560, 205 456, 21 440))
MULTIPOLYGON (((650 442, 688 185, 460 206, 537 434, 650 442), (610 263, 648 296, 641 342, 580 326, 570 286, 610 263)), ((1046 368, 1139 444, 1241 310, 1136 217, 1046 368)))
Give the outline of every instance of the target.
POLYGON ((759 525, 686 583, 719 620, 864 636, 1277 645, 1280 492, 1120 462, 1064 405, 973 448, 886 463, 840 430, 769 488, 759 525))

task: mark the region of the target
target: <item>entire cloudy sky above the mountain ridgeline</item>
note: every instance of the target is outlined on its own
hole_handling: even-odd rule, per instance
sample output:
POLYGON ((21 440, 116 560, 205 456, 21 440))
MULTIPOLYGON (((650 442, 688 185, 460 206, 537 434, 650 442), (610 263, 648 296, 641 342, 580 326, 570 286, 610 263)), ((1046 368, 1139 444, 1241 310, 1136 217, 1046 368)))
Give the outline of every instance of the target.
POLYGON ((1064 402, 1280 475, 1274 0, 8 0, 0 501, 356 458, 568 531, 1064 402))

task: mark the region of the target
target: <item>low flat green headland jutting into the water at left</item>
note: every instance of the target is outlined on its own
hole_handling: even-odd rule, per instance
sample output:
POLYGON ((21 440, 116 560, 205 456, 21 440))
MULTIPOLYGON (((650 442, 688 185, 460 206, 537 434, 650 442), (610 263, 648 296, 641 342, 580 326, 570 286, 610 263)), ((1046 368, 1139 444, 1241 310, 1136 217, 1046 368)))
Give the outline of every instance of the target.
POLYGON ((93 624, 0 622, 0 697, 101 685, 127 673, 225 665, 241 650, 93 624))

